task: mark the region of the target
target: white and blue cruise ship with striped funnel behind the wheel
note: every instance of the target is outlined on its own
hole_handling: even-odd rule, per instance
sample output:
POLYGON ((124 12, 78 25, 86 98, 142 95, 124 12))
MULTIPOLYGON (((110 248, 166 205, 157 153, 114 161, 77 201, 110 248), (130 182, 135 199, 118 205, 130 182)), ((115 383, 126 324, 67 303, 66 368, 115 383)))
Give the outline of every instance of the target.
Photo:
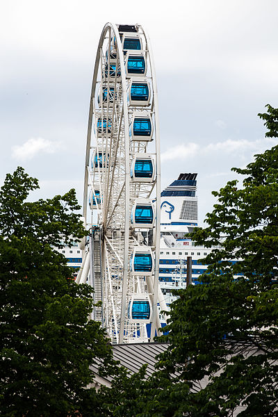
MULTIPOLYGON (((179 174, 177 180, 161 193, 161 243, 159 284, 167 306, 177 299, 173 289, 186 287, 187 259, 192 258, 192 284, 197 285, 206 265, 199 263, 210 249, 195 246, 188 233, 198 225, 197 173, 179 174)), ((59 250, 74 268, 74 276, 81 267, 82 251, 75 243, 59 250), (75 272, 76 271, 76 272, 75 272)))

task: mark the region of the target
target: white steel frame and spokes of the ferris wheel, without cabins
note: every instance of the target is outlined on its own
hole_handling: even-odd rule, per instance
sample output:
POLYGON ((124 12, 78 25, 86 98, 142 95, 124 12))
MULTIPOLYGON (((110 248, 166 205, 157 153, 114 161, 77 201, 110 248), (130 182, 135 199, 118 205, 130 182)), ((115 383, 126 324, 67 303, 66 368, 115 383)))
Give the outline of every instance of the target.
MULTIPOLYGON (((90 111, 89 111, 89 118, 88 118, 88 134, 87 134, 87 142, 86 142, 86 152, 85 152, 85 177, 84 177, 84 193, 83 193, 83 217, 85 219, 85 224, 87 227, 92 227, 92 217, 90 222, 88 222, 88 188, 90 188, 90 192, 92 193, 92 196, 95 197, 96 201, 96 209, 97 209, 97 215, 98 215, 98 221, 99 221, 99 227, 101 227, 102 234, 101 236, 101 283, 106 286, 106 293, 102 292, 102 307, 101 307, 101 315, 102 315, 102 324, 104 327, 106 327, 106 330, 108 332, 108 335, 111 337, 111 340, 113 343, 135 343, 135 342, 146 342, 146 341, 153 341, 155 334, 161 334, 161 332, 158 330, 161 327, 161 323, 159 320, 158 315, 158 309, 157 309, 157 303, 159 302, 161 304, 161 309, 166 310, 166 304, 164 301, 163 294, 161 293, 160 286, 158 284, 158 272, 159 272, 159 246, 160 246, 160 206, 161 206, 161 163, 160 163, 160 139, 159 139, 159 125, 158 125, 158 99, 157 99, 157 87, 156 87, 156 74, 154 70, 154 58, 152 54, 152 48, 151 44, 149 42, 149 36, 145 31, 143 30, 142 26, 136 25, 138 28, 138 31, 140 31, 140 35, 144 38, 144 44, 145 44, 145 51, 143 51, 143 54, 146 56, 146 65, 147 62, 149 63, 149 76, 147 77, 149 83, 152 85, 152 103, 150 104, 150 108, 148 106, 147 111, 149 111, 149 114, 152 115, 152 120, 154 121, 154 136, 155 140, 153 141, 153 146, 155 147, 154 155, 154 163, 155 163, 155 178, 152 183, 145 184, 141 183, 138 186, 133 186, 131 184, 131 141, 129 136, 129 121, 132 114, 132 108, 128 106, 128 99, 127 99, 127 77, 126 77, 126 70, 125 70, 125 63, 124 63, 124 51, 122 49, 122 42, 120 39, 120 33, 118 31, 118 28, 115 24, 107 23, 103 31, 101 33, 100 39, 99 39, 99 45, 97 48, 97 56, 95 60, 95 70, 93 74, 92 79, 92 90, 91 90, 91 97, 90 97, 90 111), (108 35, 108 38, 107 38, 108 35), (112 36, 115 36, 114 44, 116 45, 116 66, 115 66, 115 80, 111 79, 111 39, 112 36), (105 55, 104 55, 104 42, 108 39, 108 56, 105 61, 105 55), (104 62, 105 61, 105 62, 104 62), (90 157, 92 157, 92 126, 95 126, 95 132, 97 132, 97 110, 95 106, 95 100, 97 99, 97 84, 100 83, 101 85, 101 122, 103 124, 104 121, 104 105, 102 103, 103 100, 103 68, 104 64, 107 63, 107 81, 106 81, 106 156, 109 156, 108 161, 108 170, 111 172, 113 171, 113 176, 111 179, 111 182, 109 183, 108 177, 109 172, 107 169, 105 169, 104 174, 101 173, 101 170, 99 168, 94 170, 93 174, 90 171, 90 157), (118 71, 120 70, 120 75, 117 76, 118 71), (99 81, 99 72, 101 72, 101 79, 99 81), (113 181, 114 181, 114 171, 115 171, 115 165, 114 163, 113 169, 111 168, 111 150, 112 150, 112 136, 113 133, 111 133, 111 140, 110 140, 110 148, 108 149, 108 142, 107 139, 107 131, 108 131, 108 124, 109 119, 108 115, 111 113, 108 113, 110 111, 109 109, 109 101, 110 97, 108 97, 108 92, 110 92, 111 84, 115 83, 115 90, 113 93, 113 115, 111 117, 111 131, 113 130, 113 123, 115 117, 116 110, 116 85, 119 83, 122 88, 122 113, 120 116, 120 127, 117 126, 117 144, 119 143, 120 136, 124 135, 124 141, 122 142, 124 144, 124 161, 121 160, 122 167, 118 167, 118 170, 122 170, 124 172, 124 180, 120 184, 120 189, 117 188, 117 200, 113 202, 113 210, 110 210, 110 215, 108 215, 109 211, 109 204, 111 204, 111 190, 113 194, 113 181), (121 133, 122 129, 122 122, 124 124, 124 131, 121 133), (110 154, 109 154, 110 152, 110 154), (108 172, 108 173, 107 173, 108 172), (106 176, 106 177, 105 177, 106 176), (99 201, 97 201, 96 193, 95 193, 95 178, 99 179, 99 201), (106 190, 101 189, 106 186, 106 190), (110 186, 108 190, 108 186, 110 186), (136 188, 137 187, 137 188, 136 188), (140 188, 141 187, 141 188, 140 188), (133 193, 131 193, 131 188, 133 190, 133 193), (142 331, 144 328, 144 325, 142 325, 141 320, 138 320, 138 323, 133 327, 131 327, 129 319, 126 318, 126 311, 128 309, 128 304, 131 302, 131 293, 130 293, 130 279, 131 279, 131 272, 129 267, 129 259, 131 256, 131 251, 134 249, 134 247, 138 247, 138 250, 144 250, 144 245, 141 243, 136 242, 136 238, 132 236, 131 238, 131 222, 130 222, 130 216, 131 216, 131 204, 134 203, 135 197, 134 197, 134 190, 139 190, 138 193, 140 194, 140 190, 142 190, 142 193, 145 193, 147 197, 150 197, 153 190, 156 191, 154 195, 154 205, 156 206, 156 216, 154 220, 154 227, 153 227, 153 233, 154 238, 152 240, 152 247, 154 247, 154 273, 150 277, 144 277, 142 280, 142 277, 138 278, 138 284, 133 283, 137 286, 137 288, 141 287, 139 290, 139 293, 144 293, 145 288, 145 297, 151 297, 151 318, 150 322, 152 323, 152 329, 151 329, 151 337, 147 338, 147 332, 142 331), (122 193, 124 193, 124 200, 122 199, 122 193), (102 197, 103 196, 103 197, 102 197), (124 249, 122 250, 122 257, 120 256, 120 252, 117 252, 117 248, 113 247, 113 241, 111 238, 106 236, 106 231, 109 227, 111 227, 111 223, 113 223, 111 220, 113 220, 113 216, 115 216, 116 208, 119 204, 124 204, 124 214, 123 217, 123 223, 124 223, 124 249), (133 243, 133 240, 135 243, 133 243), (132 243, 131 243, 132 242, 132 243), (135 246, 134 246, 135 245, 135 246), (136 246, 138 245, 138 246, 136 246), (111 261, 109 263, 109 255, 108 252, 114 252, 113 256, 115 261, 113 263, 118 263, 118 270, 122 270, 122 280, 120 281, 120 293, 121 293, 121 305, 119 306, 119 300, 117 297, 117 293, 113 290, 115 288, 115 280, 114 284, 112 283, 113 279, 111 269, 111 261), (105 253, 104 253, 105 252, 105 253), (104 264, 106 266, 104 266, 104 264), (106 277, 107 276, 107 277, 106 277), (106 281, 107 282, 106 282, 106 281), (146 286, 144 285, 144 282, 146 283, 146 286), (107 284, 108 283, 108 284, 107 284), (129 288, 128 288, 129 286, 129 288), (144 288, 143 288, 144 287, 144 288), (143 288, 143 289, 142 289, 143 288), (147 288, 147 289, 146 289, 147 288), (109 292, 110 291, 110 292, 109 292), (127 293, 129 291, 129 300, 127 299, 127 293), (117 300, 116 300, 117 299, 117 300), (108 317, 110 317, 110 325, 108 325, 108 317), (111 321, 111 317, 113 317, 111 321), (111 324, 112 323, 112 324, 111 324), (133 329, 131 331, 130 329, 133 329), (139 333, 138 333, 139 332, 139 333)), ((133 51, 134 52, 134 51, 133 51)), ((126 54, 127 55, 127 54, 126 54)), ((147 76, 147 74, 146 74, 147 76)), ((99 110, 98 110, 99 111, 99 110)), ((133 110, 134 113, 134 110, 133 110)), ((101 132, 102 132, 101 127, 101 132)), ((97 140, 97 133, 96 133, 96 145, 97 145, 97 156, 99 156, 99 152, 104 152, 104 147, 101 147, 99 151, 99 143, 97 140)), ((102 143, 105 141, 103 140, 102 143)), ((138 144, 138 150, 143 149, 142 156, 144 154, 147 154, 147 142, 144 142, 142 145, 138 144), (144 152, 145 149, 145 152, 144 152)), ((136 145, 133 145, 133 149, 136 148, 136 145)), ((118 150, 118 148, 116 147, 118 150)), ((117 151, 116 151, 117 152, 117 151)), ((136 152, 134 152, 136 154, 136 152)), ((147 154, 149 155, 149 154, 147 154)), ((103 155, 102 155, 103 156, 103 155)), ((105 156, 105 158, 106 158, 105 156)), ((116 158, 116 156, 114 155, 116 158)), ((106 167, 106 161, 104 162, 104 165, 106 167)), ((123 177, 122 177, 123 178, 123 177)), ((116 187, 116 186, 115 186, 116 187)), ((141 193, 141 194, 142 194, 141 193)), ((115 195, 115 190, 114 190, 115 195)), ((139 195, 138 195, 139 196, 139 195)), ((117 208, 118 210, 118 208, 117 208)), ((117 214, 118 215, 118 214, 117 214)), ((110 231, 111 233, 111 231, 110 231)), ((121 234, 122 231, 119 231, 119 234, 121 234)), ((112 227, 112 234, 113 234, 113 227, 112 227)), ((92 236, 90 236, 90 239, 92 239, 92 236)), ((119 238, 120 239, 120 238, 119 238)), ((81 269, 79 271, 79 275, 76 279, 78 283, 85 283, 88 281, 89 284, 93 284, 94 282, 94 261, 92 260, 92 254, 90 256, 90 252, 92 252, 92 242, 90 240, 90 244, 82 247, 83 249, 83 264, 81 266, 81 269), (89 260, 90 259, 90 260, 89 260)), ((115 276, 115 274, 114 274, 115 276)), ((136 278, 135 281, 136 282, 136 278)), ((101 285, 102 285, 101 284, 101 285)), ((138 291, 138 290, 137 290, 138 291)), ((134 293, 132 297, 138 296, 138 293, 134 293)), ((95 318, 95 317, 94 317, 95 318)), ((95 318, 96 319, 96 318, 95 318)))

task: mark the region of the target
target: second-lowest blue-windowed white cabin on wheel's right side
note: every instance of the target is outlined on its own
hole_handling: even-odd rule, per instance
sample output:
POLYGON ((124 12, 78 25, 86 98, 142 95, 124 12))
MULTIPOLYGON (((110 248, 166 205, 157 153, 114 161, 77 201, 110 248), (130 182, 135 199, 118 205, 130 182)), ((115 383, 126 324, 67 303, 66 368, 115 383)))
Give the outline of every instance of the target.
POLYGON ((148 246, 136 246, 130 258, 131 275, 149 277, 154 273, 154 253, 148 246))

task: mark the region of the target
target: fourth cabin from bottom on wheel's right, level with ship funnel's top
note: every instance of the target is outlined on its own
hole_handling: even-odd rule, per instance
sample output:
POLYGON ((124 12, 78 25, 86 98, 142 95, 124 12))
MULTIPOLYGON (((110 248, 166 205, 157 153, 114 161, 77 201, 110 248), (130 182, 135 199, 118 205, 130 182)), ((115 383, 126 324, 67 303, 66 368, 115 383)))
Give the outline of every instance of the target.
POLYGON ((154 159, 149 154, 135 154, 131 162, 131 181, 152 182, 155 177, 154 159))

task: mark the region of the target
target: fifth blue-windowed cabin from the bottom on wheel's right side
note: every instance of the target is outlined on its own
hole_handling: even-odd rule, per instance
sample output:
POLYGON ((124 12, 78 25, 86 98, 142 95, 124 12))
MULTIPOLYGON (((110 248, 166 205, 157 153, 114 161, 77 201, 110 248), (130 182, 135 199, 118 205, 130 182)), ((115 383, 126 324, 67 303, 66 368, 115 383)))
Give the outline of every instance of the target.
POLYGON ((129 126, 129 136, 131 136, 131 140, 144 140, 149 142, 152 140, 152 135, 153 124, 152 117, 149 113, 147 113, 147 111, 134 113, 129 126))

